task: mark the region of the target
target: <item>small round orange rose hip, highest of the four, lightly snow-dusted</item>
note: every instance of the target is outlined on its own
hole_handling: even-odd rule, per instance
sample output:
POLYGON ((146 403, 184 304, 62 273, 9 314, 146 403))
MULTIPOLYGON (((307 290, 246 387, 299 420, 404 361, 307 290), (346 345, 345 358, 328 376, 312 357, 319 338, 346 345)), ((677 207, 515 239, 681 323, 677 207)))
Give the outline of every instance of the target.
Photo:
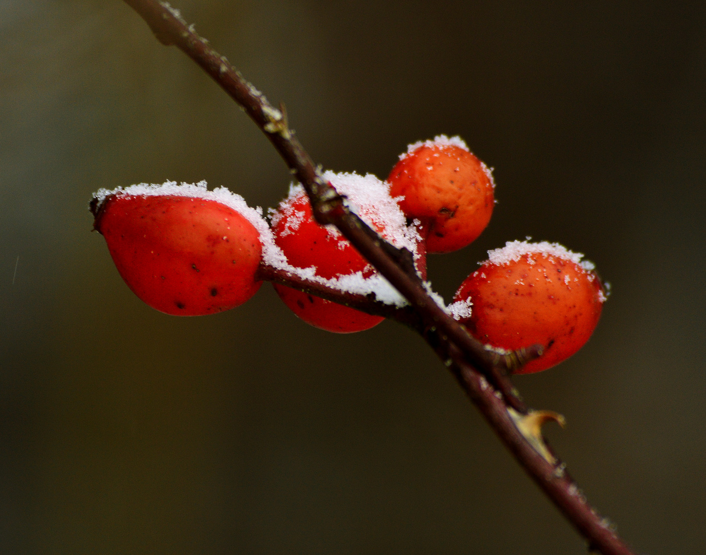
POLYGON ((493 177, 458 137, 438 135, 416 142, 390 172, 393 197, 403 196, 407 216, 429 220, 429 252, 465 247, 486 228, 493 213, 493 177))

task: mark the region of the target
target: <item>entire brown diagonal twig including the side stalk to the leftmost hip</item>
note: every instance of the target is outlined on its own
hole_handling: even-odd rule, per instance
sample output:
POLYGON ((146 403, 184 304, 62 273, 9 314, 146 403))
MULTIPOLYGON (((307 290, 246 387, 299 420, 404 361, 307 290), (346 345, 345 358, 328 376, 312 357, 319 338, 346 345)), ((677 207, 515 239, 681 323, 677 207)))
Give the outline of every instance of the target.
MULTIPOLYGON (((125 1, 145 19, 160 42, 176 44, 244 108, 304 185, 317 221, 334 224, 361 255, 397 288, 410 306, 403 309, 388 308, 362 295, 356 297, 345 294, 339 296, 337 302, 366 312, 381 313, 419 331, 453 372, 462 389, 477 405, 518 463, 587 539, 592 549, 604 555, 631 555, 632 551, 626 544, 587 504, 575 482, 564 470, 563 463, 553 456, 549 458, 542 455, 533 446, 530 440, 542 441, 541 434, 539 437, 530 437, 520 425, 523 419, 531 419, 533 413, 515 396, 505 374, 517 365, 536 358, 541 354, 542 347, 532 346, 519 353, 506 355, 487 350, 473 339, 465 327, 450 318, 427 293, 423 281, 414 272, 409 252, 398 250, 382 240, 361 219, 349 212, 335 189, 323 181, 309 155, 294 138, 281 110, 271 106, 263 94, 244 80, 225 57, 208 46, 208 42, 196 35, 193 28, 186 25, 169 4, 157 0, 125 1), (496 392, 496 389, 501 393, 496 392)), ((262 267, 259 275, 262 279, 277 281, 324 298, 328 295, 329 300, 336 300, 335 296, 341 295, 340 292, 324 291, 321 285, 304 283, 296 276, 287 275, 286 272, 278 273, 267 267, 262 267)))

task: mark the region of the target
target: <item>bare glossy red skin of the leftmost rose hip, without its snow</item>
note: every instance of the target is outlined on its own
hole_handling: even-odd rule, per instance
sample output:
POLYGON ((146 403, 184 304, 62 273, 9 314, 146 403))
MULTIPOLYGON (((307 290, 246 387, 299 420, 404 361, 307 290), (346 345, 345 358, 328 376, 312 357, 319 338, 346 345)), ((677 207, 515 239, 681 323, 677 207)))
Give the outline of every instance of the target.
POLYGON ((229 310, 262 284, 258 232, 220 202, 118 194, 103 202, 94 226, 133 293, 169 315, 229 310))

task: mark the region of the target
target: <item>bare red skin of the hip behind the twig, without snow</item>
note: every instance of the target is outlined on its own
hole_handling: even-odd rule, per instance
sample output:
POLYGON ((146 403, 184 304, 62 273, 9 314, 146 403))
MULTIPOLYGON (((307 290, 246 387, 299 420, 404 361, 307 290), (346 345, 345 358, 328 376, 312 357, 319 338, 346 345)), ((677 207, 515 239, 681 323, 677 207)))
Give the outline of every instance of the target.
MULTIPOLYGON (((364 277, 373 274, 371 265, 345 238, 314 221, 306 195, 290 202, 286 212, 281 208, 273 219, 272 231, 289 264, 316 267, 316 274, 324 279, 355 272, 362 272, 364 277), (297 226, 296 231, 292 226, 297 226)), ((274 286, 294 314, 319 329, 349 334, 370 329, 384 319, 277 283, 274 286)))

